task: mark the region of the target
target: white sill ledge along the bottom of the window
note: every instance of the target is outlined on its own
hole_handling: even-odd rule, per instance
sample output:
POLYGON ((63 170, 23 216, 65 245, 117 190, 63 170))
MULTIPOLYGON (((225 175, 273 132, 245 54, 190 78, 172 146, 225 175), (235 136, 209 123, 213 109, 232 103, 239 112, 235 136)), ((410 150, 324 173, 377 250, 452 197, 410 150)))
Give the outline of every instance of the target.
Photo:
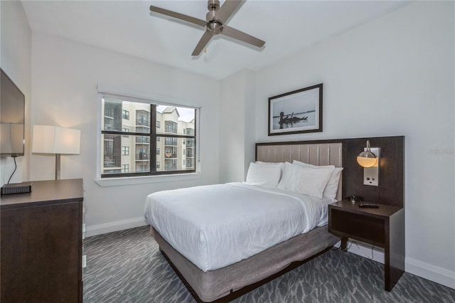
POLYGON ((150 184, 159 182, 173 182, 199 179, 200 173, 191 174, 171 174, 161 176, 136 176, 125 178, 97 178, 95 182, 102 187, 107 186, 124 186, 135 184, 150 184))

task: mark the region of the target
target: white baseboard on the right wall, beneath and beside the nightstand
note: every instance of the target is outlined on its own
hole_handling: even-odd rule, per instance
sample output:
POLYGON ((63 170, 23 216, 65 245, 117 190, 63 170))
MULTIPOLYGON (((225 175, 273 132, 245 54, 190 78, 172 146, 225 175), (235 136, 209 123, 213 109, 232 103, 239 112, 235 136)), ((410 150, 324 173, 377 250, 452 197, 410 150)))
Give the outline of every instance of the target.
MULTIPOLYGON (((339 243, 337 246, 339 246, 339 243)), ((368 257, 368 259, 384 264, 384 250, 382 248, 375 247, 372 253, 371 245, 353 240, 349 240, 348 248, 348 252, 355 253, 355 255, 360 255, 361 257, 368 257)), ((455 289, 455 272, 445 268, 405 257, 405 272, 455 289)))

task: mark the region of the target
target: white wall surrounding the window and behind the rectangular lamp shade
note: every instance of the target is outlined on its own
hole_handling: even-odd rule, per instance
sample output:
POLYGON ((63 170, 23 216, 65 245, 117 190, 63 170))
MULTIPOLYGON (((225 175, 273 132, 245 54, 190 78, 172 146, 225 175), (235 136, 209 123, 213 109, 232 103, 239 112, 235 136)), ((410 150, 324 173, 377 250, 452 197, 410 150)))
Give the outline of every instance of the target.
MULTIPOLYGON (((81 130, 80 155, 62 156, 61 179, 84 179, 87 235, 144 225, 145 198, 154 191, 218 183, 217 80, 41 33, 33 33, 32 46, 31 124, 81 130), (95 183, 100 136, 97 85, 200 105, 199 178, 109 187, 95 183)), ((31 180, 53 178, 53 156, 33 154, 31 180)))

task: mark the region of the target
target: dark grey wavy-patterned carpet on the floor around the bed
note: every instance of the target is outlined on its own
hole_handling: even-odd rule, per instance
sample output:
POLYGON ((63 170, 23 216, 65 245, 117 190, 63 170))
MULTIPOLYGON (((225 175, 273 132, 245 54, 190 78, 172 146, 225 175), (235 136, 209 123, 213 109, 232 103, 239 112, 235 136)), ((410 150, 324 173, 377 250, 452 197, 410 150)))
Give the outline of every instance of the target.
MULTIPOLYGON (((195 302, 149 227, 84 240, 84 302, 195 302)), ((411 275, 384 290, 384 268, 365 257, 328 251, 234 302, 454 302, 455 289, 411 275)))

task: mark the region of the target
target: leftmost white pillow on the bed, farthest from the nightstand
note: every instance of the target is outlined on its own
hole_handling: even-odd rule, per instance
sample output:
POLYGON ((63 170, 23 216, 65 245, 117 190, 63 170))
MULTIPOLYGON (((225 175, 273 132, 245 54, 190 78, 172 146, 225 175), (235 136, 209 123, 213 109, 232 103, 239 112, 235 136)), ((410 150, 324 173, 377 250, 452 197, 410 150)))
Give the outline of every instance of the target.
POLYGON ((282 176, 281 163, 250 163, 247 173, 247 184, 276 188, 280 177, 282 176))

